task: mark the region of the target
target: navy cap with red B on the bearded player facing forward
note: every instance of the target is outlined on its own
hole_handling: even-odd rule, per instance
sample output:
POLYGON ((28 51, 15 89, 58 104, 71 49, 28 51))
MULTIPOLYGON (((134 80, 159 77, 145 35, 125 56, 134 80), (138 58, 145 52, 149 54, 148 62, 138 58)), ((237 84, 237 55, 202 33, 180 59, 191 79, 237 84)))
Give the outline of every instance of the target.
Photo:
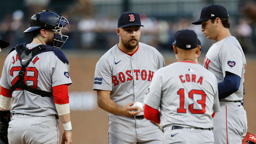
POLYGON ((117 27, 128 27, 128 26, 143 26, 140 23, 140 16, 135 12, 124 12, 118 18, 117 27))

